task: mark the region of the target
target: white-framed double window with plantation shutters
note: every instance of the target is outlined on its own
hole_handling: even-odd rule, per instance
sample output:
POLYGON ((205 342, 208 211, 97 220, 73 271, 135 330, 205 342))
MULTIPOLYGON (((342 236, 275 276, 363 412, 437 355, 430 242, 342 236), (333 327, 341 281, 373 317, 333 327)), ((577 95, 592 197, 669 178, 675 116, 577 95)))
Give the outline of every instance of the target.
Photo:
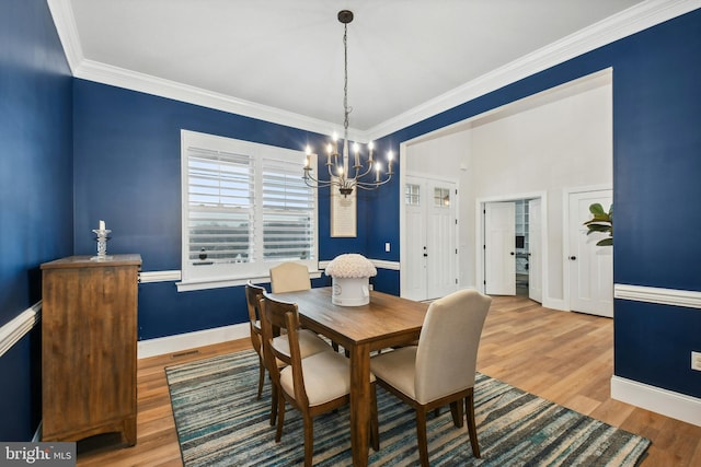
POLYGON ((304 154, 182 130, 180 290, 265 278, 288 260, 317 270, 317 192, 304 154))

